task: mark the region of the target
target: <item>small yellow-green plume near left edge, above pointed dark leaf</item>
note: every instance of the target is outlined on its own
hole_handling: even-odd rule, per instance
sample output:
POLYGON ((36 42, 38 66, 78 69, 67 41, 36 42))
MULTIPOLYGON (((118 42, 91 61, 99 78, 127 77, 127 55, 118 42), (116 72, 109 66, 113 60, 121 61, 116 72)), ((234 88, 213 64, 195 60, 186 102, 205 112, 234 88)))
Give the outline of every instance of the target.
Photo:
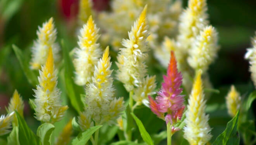
MULTIPOLYGON (((12 98, 10 99, 7 112, 12 113, 14 111, 17 111, 19 115, 23 117, 23 109, 24 109, 24 103, 23 103, 22 97, 20 96, 18 91, 15 90, 12 98)), ((14 125, 18 125, 16 114, 14 114, 13 123, 14 125)))

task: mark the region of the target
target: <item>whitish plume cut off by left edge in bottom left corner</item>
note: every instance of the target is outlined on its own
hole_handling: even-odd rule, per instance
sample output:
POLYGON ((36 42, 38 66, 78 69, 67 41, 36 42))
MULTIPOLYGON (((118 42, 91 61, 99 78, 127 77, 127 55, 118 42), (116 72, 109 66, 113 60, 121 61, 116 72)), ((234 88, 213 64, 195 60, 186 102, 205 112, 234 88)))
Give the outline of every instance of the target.
POLYGON ((10 132, 12 125, 14 112, 7 114, 7 116, 1 115, 0 117, 0 136, 5 135, 10 132))

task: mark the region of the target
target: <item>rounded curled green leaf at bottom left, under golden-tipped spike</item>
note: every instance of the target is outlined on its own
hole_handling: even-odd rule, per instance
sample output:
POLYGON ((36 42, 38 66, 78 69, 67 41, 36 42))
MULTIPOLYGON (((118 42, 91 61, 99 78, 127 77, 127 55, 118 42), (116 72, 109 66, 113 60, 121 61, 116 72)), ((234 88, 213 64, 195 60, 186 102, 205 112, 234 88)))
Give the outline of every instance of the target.
POLYGON ((42 145, 51 145, 51 136, 54 128, 54 125, 50 123, 44 123, 38 127, 36 134, 39 137, 42 145))

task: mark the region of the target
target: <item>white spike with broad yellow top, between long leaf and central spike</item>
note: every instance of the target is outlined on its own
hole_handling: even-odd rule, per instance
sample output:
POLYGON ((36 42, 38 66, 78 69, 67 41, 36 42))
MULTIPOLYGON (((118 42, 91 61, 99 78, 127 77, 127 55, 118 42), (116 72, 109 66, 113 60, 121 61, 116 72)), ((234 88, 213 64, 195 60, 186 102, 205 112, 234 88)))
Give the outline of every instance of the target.
POLYGON ((99 39, 99 29, 93 22, 92 16, 80 30, 78 36, 79 48, 75 48, 74 67, 76 69, 75 83, 77 85, 86 85, 92 81, 94 65, 97 64, 102 54, 97 42, 99 39))

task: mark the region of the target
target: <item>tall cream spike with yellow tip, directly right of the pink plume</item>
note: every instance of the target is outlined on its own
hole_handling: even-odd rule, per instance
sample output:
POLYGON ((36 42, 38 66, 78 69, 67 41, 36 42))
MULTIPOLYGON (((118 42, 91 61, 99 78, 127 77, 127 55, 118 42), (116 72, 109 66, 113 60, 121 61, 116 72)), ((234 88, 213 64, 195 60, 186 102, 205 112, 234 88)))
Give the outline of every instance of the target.
POLYGON ((204 100, 201 74, 201 70, 197 71, 186 112, 184 138, 190 145, 204 145, 212 137, 211 128, 208 125, 209 116, 204 113, 206 101, 204 100))

